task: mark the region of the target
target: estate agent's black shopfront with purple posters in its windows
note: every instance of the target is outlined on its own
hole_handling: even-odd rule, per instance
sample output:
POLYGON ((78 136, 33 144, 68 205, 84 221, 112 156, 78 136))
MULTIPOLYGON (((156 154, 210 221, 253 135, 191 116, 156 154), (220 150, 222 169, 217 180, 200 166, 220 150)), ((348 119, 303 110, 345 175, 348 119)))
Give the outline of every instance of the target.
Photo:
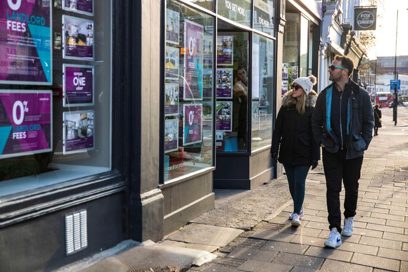
POLYGON ((284 1, 34 2, 0 1, 8 14, 34 5, 24 12, 45 21, 36 39, 36 26, 24 36, 23 19, 6 14, 15 33, 0 42, 0 58, 14 58, 0 68, 0 129, 10 127, 0 131, 0 271, 159 241, 212 209, 213 188, 275 177, 284 1), (37 55, 11 52, 35 67, 2 50, 18 37, 37 55), (31 109, 40 113, 21 117, 31 109), (45 147, 15 141, 27 128, 18 122, 40 119, 26 133, 45 147))

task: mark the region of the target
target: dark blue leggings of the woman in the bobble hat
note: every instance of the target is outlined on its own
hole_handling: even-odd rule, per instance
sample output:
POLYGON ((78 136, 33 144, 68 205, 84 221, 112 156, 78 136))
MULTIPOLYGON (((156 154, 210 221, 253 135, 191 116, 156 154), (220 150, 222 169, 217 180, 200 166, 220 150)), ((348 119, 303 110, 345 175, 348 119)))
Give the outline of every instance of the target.
POLYGON ((299 213, 303 206, 306 177, 310 166, 284 164, 289 191, 293 199, 293 212, 299 213))

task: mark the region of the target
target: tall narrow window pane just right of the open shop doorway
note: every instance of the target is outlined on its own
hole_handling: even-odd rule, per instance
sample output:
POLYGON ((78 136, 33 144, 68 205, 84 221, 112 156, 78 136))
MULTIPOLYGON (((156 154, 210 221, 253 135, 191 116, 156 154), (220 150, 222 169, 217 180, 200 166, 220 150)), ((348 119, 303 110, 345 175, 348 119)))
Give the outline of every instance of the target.
POLYGON ((253 35, 252 152, 271 144, 274 97, 274 41, 253 35))

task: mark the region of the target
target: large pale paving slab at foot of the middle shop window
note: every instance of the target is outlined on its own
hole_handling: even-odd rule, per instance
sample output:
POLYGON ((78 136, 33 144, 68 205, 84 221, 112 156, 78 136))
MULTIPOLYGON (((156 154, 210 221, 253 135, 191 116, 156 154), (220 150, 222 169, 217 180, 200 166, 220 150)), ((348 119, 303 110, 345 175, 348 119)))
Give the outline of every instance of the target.
POLYGON ((170 234, 167 239, 194 244, 225 246, 243 230, 203 224, 190 224, 170 234))

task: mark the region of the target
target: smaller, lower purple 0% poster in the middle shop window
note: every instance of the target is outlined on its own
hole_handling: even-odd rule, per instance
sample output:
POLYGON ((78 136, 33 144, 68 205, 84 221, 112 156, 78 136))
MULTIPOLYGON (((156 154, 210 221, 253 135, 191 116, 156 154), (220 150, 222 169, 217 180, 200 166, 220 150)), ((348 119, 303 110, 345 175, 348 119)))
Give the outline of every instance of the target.
POLYGON ((202 105, 185 104, 183 106, 183 145, 199 143, 202 141, 202 105))

